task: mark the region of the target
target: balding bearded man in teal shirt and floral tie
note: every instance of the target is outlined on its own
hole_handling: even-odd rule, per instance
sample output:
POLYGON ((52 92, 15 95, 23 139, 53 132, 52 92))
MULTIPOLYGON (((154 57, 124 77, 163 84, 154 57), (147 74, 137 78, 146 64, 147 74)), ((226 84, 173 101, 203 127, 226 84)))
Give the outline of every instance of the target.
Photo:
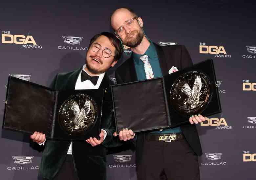
MULTIPOLYGON (((142 29, 142 19, 129 8, 115 10, 111 15, 111 26, 123 44, 133 51, 131 57, 116 70, 118 84, 162 77, 192 65, 184 46, 158 46, 149 41, 142 29)), ((199 180, 198 155, 202 155, 202 149, 195 124, 202 121, 205 121, 205 117, 199 114, 189 118, 190 124, 138 133, 138 180, 199 180), (166 134, 177 138, 165 142, 163 137, 166 134)), ((119 132, 120 140, 134 137, 132 130, 123 129, 119 132)))

